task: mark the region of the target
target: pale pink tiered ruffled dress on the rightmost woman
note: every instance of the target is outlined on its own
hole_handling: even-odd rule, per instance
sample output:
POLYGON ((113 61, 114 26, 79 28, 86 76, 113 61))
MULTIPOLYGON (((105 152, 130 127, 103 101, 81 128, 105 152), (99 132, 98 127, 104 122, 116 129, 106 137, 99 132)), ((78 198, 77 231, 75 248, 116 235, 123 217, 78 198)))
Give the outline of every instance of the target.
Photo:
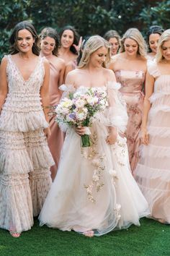
POLYGON ((151 216, 170 223, 170 74, 161 74, 156 61, 148 65, 155 78, 148 114, 149 144, 141 146, 135 179, 151 216))

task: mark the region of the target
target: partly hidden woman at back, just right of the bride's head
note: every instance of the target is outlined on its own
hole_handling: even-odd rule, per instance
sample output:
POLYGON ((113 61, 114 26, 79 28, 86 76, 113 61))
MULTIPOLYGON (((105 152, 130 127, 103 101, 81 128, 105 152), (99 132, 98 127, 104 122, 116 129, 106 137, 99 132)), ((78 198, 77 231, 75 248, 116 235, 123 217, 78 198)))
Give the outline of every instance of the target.
POLYGON ((117 31, 109 30, 104 34, 103 38, 107 40, 112 46, 111 55, 114 56, 117 54, 117 51, 120 48, 120 35, 117 33, 117 31))

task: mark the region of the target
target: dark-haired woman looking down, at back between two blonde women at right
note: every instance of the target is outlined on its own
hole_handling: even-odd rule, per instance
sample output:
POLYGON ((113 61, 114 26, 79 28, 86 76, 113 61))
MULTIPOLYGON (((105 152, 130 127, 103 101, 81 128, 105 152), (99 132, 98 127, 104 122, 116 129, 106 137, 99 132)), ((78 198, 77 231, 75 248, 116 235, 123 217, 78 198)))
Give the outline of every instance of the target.
POLYGON ((146 42, 148 44, 148 55, 147 59, 153 60, 156 56, 158 40, 161 37, 161 34, 164 32, 164 29, 161 26, 153 25, 149 27, 146 42))

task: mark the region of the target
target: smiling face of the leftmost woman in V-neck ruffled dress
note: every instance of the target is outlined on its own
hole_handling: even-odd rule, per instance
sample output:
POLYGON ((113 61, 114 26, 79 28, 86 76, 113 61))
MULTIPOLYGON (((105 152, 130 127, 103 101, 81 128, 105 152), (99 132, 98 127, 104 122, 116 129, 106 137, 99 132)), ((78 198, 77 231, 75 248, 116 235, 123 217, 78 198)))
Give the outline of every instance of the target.
POLYGON ((19 30, 17 35, 17 48, 23 53, 32 51, 33 43, 35 42, 32 33, 29 30, 19 30))

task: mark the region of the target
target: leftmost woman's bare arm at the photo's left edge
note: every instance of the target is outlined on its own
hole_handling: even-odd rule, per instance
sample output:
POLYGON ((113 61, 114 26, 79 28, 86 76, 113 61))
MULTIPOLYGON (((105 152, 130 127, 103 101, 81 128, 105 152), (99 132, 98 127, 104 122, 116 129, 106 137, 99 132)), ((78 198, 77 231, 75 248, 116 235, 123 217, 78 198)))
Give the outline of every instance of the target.
POLYGON ((3 58, 1 61, 0 67, 0 114, 2 105, 5 102, 6 95, 8 93, 8 84, 6 80, 6 66, 7 66, 7 59, 3 58))

